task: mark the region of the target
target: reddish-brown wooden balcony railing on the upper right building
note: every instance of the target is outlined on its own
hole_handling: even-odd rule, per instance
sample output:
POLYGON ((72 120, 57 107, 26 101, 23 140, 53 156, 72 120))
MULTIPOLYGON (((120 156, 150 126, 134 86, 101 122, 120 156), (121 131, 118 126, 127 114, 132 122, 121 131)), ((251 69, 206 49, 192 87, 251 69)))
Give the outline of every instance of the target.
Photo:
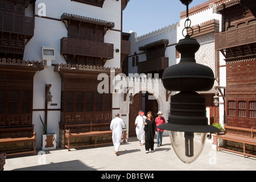
POLYGON ((216 50, 237 47, 256 42, 256 24, 215 34, 216 50))

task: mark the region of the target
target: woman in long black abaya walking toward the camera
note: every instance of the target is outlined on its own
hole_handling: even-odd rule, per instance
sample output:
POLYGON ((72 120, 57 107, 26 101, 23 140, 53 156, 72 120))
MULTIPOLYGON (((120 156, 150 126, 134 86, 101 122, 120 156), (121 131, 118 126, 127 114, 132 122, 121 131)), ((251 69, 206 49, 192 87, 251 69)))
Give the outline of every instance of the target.
POLYGON ((145 148, 146 148, 146 154, 149 152, 149 149, 151 152, 154 152, 154 136, 157 133, 156 130, 156 124, 155 119, 152 118, 151 111, 147 112, 147 119, 145 122, 145 148))

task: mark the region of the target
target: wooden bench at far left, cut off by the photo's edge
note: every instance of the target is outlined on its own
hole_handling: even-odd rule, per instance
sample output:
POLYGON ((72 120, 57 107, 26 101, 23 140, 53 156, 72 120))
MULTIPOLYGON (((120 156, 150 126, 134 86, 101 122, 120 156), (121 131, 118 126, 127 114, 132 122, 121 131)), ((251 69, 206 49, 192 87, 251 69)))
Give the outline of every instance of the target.
POLYGON ((34 131, 34 125, 31 126, 15 126, 15 127, 1 127, 0 128, 0 145, 13 144, 13 143, 26 143, 31 142, 31 147, 19 147, 16 146, 13 149, 3 151, 6 156, 18 155, 18 154, 30 154, 36 153, 36 132, 34 131), (21 148, 21 149, 20 149, 21 148))

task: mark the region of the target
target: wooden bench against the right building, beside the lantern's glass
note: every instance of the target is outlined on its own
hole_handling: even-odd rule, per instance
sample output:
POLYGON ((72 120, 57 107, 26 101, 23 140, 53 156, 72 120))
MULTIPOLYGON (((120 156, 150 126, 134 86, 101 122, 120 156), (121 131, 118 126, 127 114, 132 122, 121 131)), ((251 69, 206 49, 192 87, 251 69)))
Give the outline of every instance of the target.
POLYGON ((250 144, 253 146, 256 145, 256 130, 255 129, 253 129, 253 128, 246 129, 246 128, 242 128, 242 127, 234 127, 234 126, 224 125, 224 131, 225 131, 224 135, 216 135, 216 138, 217 138, 216 150, 217 151, 218 151, 218 149, 221 149, 221 150, 226 150, 226 151, 230 151, 230 152, 236 152, 237 154, 242 154, 243 158, 245 158, 246 155, 256 157, 256 155, 254 155, 254 150, 246 151, 246 148, 245 148, 245 144, 250 144), (242 143, 243 144, 243 152, 230 150, 228 148, 225 148, 225 146, 218 147, 218 138, 242 143), (252 154, 249 154, 248 152, 251 152, 252 154))

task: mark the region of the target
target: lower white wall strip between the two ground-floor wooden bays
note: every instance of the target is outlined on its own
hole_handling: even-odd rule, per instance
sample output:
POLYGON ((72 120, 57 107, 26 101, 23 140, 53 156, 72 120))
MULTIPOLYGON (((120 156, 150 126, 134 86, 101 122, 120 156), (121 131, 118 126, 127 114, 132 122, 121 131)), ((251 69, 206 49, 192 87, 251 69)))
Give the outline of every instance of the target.
POLYGON ((40 126, 41 116, 44 122, 44 109, 46 99, 46 84, 51 84, 50 92, 52 94, 52 103, 57 106, 49 106, 48 109, 59 109, 56 111, 48 111, 47 117, 47 132, 57 134, 57 142, 59 142, 59 122, 60 122, 60 93, 61 93, 61 78, 59 73, 54 72, 54 67, 44 68, 42 71, 38 71, 34 76, 34 93, 33 93, 33 124, 35 125, 35 131, 37 135, 36 148, 40 148, 41 135, 43 131, 40 126), (36 111, 37 110, 37 111, 36 111))

